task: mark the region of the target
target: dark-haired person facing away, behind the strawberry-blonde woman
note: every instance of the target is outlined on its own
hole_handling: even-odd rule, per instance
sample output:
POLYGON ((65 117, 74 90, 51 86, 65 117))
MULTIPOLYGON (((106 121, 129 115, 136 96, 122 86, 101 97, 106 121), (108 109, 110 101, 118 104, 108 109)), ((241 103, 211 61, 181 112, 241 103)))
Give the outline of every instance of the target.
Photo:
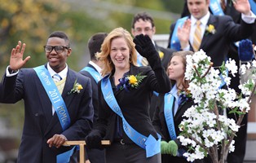
MULTIPOLYGON (((104 42, 104 38, 108 36, 108 33, 95 33, 90 37, 88 41, 88 49, 90 52, 90 61, 85 68, 82 68, 80 73, 91 80, 92 86, 92 104, 94 107, 94 118, 95 122, 98 118, 98 82, 101 77, 101 68, 103 63, 96 58, 96 54, 100 52, 101 44, 104 42)), ((86 154, 89 158, 90 163, 104 163, 105 155, 104 150, 99 149, 86 149, 86 154)))

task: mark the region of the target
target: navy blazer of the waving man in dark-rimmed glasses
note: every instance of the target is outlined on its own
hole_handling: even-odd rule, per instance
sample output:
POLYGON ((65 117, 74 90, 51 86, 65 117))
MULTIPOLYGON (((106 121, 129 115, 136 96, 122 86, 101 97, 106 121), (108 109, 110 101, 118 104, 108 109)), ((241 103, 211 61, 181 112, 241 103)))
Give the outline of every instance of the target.
POLYGON ((62 130, 56 113, 52 116, 51 100, 33 68, 20 69, 18 75, 3 76, 0 102, 15 104, 24 99, 24 129, 18 162, 56 162, 56 156, 70 147, 49 148, 46 141, 54 134, 64 134, 68 140, 83 140, 91 130, 93 108, 90 79, 68 68, 62 98, 67 106, 71 124, 62 130), (83 87, 79 94, 70 94, 77 80, 83 87))

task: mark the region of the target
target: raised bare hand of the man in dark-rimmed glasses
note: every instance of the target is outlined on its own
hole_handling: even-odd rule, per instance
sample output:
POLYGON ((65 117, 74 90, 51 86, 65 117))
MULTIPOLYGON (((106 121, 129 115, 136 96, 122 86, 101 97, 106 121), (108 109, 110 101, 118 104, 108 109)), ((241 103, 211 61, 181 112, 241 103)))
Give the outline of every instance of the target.
POLYGON ((20 50, 21 42, 19 41, 18 45, 15 48, 12 48, 11 58, 10 58, 10 68, 12 70, 18 70, 18 69, 22 68, 24 66, 24 64, 26 64, 26 62, 30 59, 30 56, 27 56, 23 60, 25 46, 26 45, 23 43, 22 48, 20 50))

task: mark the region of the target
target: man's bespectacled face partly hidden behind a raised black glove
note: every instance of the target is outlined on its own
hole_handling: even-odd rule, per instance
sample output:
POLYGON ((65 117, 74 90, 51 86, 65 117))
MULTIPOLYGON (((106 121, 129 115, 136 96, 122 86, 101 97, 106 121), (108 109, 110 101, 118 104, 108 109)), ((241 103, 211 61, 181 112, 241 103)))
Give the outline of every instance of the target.
POLYGON ((135 22, 135 29, 131 29, 131 33, 134 37, 139 34, 147 34, 152 39, 153 34, 156 33, 156 28, 152 27, 150 21, 139 19, 135 22))

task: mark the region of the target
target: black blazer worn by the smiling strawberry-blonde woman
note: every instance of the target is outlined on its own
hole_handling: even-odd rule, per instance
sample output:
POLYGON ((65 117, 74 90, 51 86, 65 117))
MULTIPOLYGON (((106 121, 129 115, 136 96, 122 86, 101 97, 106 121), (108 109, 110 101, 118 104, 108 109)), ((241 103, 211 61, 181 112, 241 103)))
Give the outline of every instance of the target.
MULTIPOLYGON (((166 75, 163 68, 157 68, 154 71, 150 67, 136 67, 130 65, 130 71, 128 75, 146 75, 143 81, 139 84, 137 89, 131 89, 130 92, 126 90, 117 90, 113 82, 113 76, 110 76, 110 81, 113 86, 113 92, 117 99, 117 103, 121 108, 123 116, 126 121, 137 130, 140 134, 148 137, 152 134, 157 139, 157 132, 152 126, 152 122, 148 115, 148 108, 150 99, 152 97, 152 91, 157 92, 169 92, 170 91, 170 80, 166 75)), ((115 139, 115 128, 117 126, 117 114, 108 107, 101 90, 101 81, 99 81, 99 121, 97 121, 94 130, 104 137, 109 139, 111 142, 115 139)), ((128 138, 125 131, 122 129, 122 138, 124 143, 133 143, 128 138)))

